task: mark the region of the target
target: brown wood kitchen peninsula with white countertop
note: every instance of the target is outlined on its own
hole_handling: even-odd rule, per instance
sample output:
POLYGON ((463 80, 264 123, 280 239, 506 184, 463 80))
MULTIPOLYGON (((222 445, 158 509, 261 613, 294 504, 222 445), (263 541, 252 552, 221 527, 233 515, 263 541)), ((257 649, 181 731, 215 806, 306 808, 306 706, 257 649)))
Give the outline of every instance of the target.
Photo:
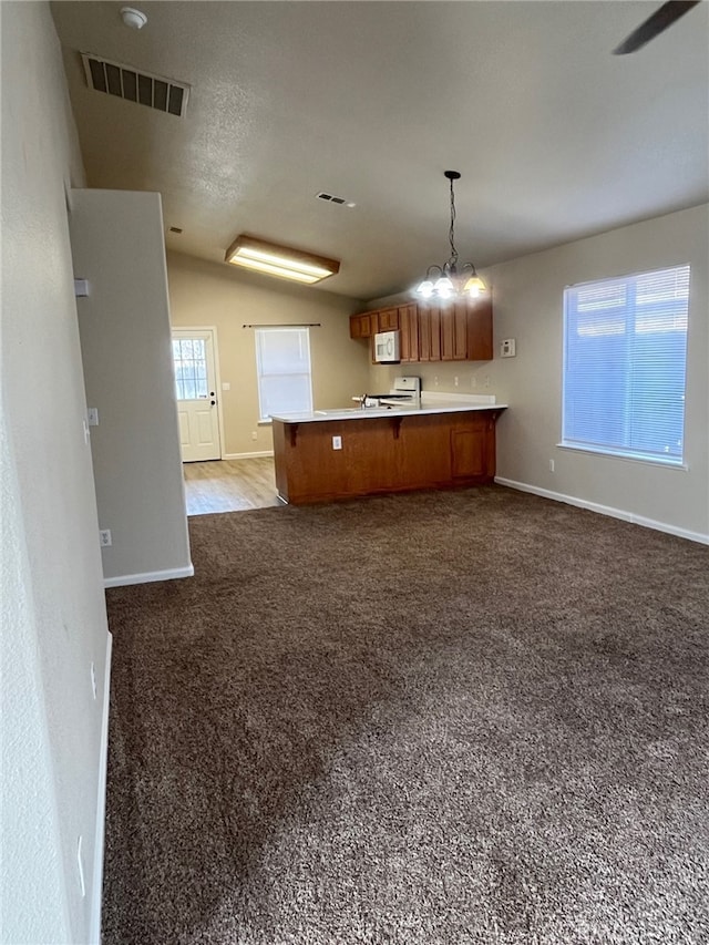
POLYGON ((417 407, 274 415, 278 495, 304 505, 490 483, 505 408, 494 397, 428 394, 417 407))

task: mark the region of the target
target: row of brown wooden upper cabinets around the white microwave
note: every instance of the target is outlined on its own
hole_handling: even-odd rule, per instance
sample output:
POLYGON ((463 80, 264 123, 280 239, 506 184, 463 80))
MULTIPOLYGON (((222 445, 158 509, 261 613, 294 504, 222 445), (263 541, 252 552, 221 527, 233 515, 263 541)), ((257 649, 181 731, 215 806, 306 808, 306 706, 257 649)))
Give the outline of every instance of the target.
POLYGON ((350 317, 350 338, 401 332, 401 362, 491 361, 492 299, 411 302, 350 317))

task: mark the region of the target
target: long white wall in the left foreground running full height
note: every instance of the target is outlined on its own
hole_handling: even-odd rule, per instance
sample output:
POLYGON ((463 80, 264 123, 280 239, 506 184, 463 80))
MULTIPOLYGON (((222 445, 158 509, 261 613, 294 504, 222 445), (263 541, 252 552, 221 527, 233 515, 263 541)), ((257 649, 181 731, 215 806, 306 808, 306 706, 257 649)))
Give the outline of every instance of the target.
POLYGON ((83 170, 48 4, 6 2, 0 16, 0 941, 86 943, 100 894, 94 838, 109 635, 64 201, 65 188, 83 184, 83 170))

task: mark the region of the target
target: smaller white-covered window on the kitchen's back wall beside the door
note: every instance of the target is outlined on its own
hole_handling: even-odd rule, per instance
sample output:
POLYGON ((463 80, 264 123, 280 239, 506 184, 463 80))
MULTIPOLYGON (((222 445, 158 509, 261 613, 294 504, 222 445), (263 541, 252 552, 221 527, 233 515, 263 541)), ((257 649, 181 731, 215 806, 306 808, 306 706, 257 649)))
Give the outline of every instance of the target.
POLYGON ((257 328, 256 370, 261 420, 312 410, 307 328, 257 328))

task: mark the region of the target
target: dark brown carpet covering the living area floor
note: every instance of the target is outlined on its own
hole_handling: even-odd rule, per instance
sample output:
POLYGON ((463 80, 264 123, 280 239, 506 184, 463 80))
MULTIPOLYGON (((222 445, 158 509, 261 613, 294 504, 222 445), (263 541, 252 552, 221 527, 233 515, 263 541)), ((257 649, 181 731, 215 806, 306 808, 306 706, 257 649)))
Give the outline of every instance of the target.
POLYGON ((709 549, 504 489, 109 592, 104 945, 709 942, 709 549))

